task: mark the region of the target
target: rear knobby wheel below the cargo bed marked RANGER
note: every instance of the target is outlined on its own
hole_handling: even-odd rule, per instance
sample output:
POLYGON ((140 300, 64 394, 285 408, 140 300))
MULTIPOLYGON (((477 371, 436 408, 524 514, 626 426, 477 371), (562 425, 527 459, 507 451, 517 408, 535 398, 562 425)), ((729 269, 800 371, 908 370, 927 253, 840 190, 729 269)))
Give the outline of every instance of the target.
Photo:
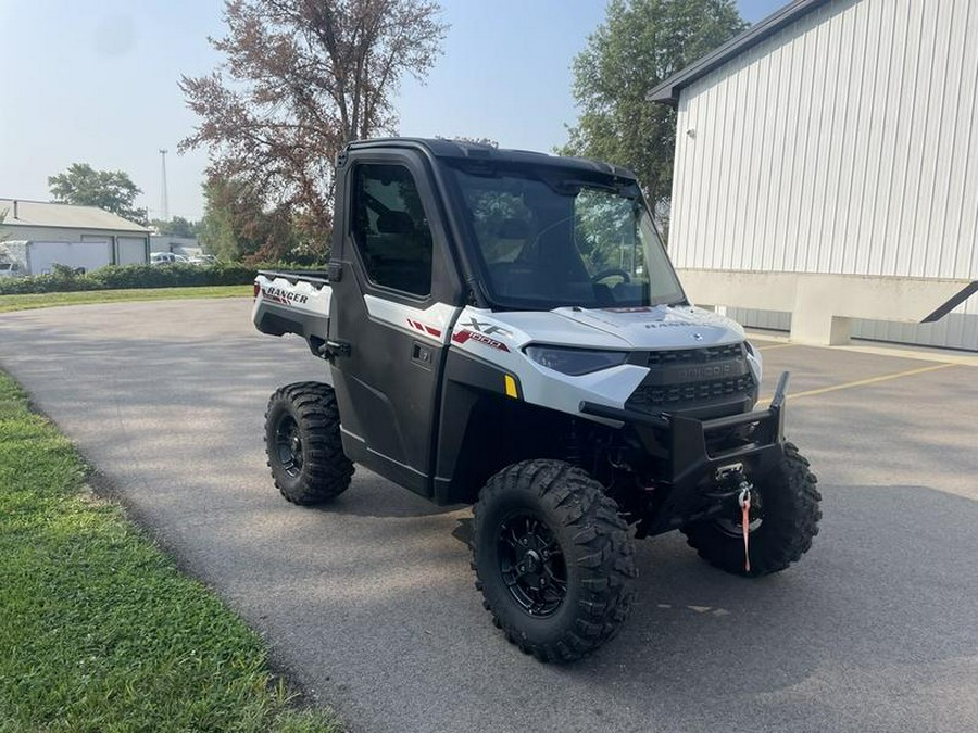
POLYGON ((319 504, 343 493, 353 464, 343 453, 333 388, 288 384, 272 395, 265 413, 265 452, 275 485, 294 504, 319 504))

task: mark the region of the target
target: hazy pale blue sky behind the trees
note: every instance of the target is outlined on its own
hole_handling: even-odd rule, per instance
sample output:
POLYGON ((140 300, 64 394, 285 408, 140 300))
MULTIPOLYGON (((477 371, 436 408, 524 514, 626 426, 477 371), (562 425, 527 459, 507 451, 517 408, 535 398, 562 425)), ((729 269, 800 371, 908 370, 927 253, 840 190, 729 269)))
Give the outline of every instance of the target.
MULTIPOLYGON (((738 0, 756 22, 787 0, 738 0)), ((570 62, 605 0, 441 0, 451 25, 424 84, 397 96, 401 135, 490 138, 550 151, 577 118, 570 62)), ((124 170, 137 206, 199 219, 206 152, 176 152, 197 117, 177 83, 215 69, 220 0, 0 0, 7 73, 0 101, 0 198, 50 200, 72 163, 124 170)))

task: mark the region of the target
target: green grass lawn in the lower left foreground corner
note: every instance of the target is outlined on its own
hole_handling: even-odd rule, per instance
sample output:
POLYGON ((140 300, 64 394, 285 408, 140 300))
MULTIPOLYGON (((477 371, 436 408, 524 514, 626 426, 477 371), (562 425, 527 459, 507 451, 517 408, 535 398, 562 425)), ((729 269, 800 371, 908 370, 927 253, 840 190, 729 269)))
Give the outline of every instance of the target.
POLYGON ((0 372, 0 731, 339 731, 0 372))

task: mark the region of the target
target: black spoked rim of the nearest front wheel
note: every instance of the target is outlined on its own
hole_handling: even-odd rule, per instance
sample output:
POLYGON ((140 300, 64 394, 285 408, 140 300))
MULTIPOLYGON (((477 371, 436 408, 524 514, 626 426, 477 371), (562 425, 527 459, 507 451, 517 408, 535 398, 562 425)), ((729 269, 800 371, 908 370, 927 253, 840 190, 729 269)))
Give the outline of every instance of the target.
POLYGON ((537 515, 521 511, 499 526, 499 570, 510 595, 535 617, 556 612, 567 595, 567 564, 553 532, 537 515))

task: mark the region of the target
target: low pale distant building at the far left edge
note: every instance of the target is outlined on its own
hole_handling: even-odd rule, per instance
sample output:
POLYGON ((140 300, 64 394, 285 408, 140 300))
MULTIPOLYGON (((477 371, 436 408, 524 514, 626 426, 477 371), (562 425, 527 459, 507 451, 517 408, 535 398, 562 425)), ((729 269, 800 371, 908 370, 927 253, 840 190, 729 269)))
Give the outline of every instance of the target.
POLYGON ((55 262, 86 269, 149 262, 150 230, 96 206, 0 199, 0 256, 28 274, 55 262))

